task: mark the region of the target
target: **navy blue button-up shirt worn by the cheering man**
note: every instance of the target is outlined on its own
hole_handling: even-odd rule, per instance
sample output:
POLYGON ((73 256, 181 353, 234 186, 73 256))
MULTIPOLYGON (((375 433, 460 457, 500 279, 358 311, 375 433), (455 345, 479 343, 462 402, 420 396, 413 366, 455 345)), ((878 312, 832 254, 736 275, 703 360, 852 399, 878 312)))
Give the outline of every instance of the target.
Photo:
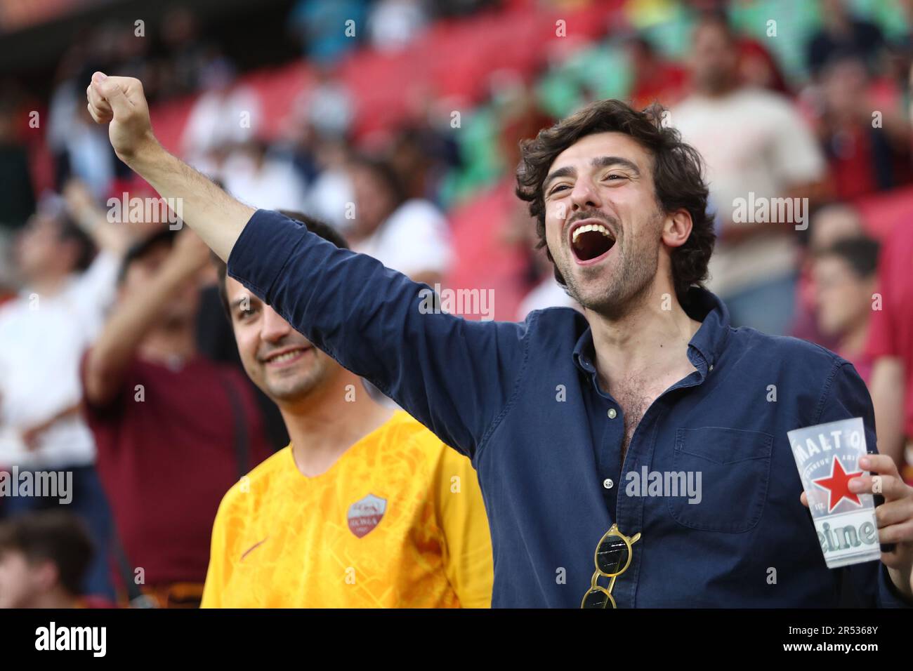
POLYGON ((573 309, 522 323, 428 313, 425 285, 263 210, 228 274, 472 459, 493 606, 579 607, 613 523, 641 534, 614 585, 620 608, 901 603, 880 562, 825 566, 786 435, 861 416, 874 447, 865 384, 816 345, 732 328, 708 291, 686 308, 702 322, 687 348, 697 370, 650 405, 623 461, 624 411, 600 390, 573 309), (700 502, 629 491, 650 472, 700 472, 700 502))

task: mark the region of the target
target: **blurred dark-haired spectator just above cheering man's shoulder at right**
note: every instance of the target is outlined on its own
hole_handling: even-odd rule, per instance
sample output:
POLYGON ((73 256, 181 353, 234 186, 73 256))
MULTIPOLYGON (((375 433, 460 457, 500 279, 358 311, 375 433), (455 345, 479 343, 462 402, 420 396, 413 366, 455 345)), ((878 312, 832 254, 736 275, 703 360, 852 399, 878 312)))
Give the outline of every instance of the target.
POLYGON ((871 238, 845 238, 817 252, 812 268, 818 330, 836 341, 834 351, 853 363, 866 383, 872 372, 866 339, 878 249, 871 238))

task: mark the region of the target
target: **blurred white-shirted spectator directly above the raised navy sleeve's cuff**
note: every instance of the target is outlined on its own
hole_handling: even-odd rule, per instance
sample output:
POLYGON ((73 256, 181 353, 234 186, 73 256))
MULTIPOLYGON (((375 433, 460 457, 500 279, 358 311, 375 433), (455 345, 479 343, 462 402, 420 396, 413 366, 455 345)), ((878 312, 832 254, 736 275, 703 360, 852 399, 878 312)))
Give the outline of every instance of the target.
POLYGON ((220 173, 230 194, 255 207, 300 209, 304 204, 304 184, 295 167, 270 156, 265 140, 251 139, 239 145, 220 173))

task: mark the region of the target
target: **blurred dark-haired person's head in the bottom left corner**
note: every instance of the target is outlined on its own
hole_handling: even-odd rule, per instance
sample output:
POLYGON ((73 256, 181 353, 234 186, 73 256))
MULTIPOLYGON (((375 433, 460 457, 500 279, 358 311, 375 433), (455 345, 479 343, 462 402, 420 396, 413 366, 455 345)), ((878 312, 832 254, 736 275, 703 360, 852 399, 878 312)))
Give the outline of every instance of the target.
POLYGON ((63 511, 0 521, 0 608, 79 608, 92 560, 79 518, 63 511))

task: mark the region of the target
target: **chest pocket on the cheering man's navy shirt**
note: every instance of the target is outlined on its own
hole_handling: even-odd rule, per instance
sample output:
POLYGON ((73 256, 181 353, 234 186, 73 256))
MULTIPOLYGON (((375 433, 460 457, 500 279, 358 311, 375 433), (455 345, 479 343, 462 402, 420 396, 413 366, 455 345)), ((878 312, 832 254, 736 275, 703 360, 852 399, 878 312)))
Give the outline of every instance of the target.
POLYGON ((701 474, 699 503, 666 498, 672 518, 691 529, 739 533, 761 519, 771 477, 773 436, 719 426, 677 429, 673 469, 701 474))

